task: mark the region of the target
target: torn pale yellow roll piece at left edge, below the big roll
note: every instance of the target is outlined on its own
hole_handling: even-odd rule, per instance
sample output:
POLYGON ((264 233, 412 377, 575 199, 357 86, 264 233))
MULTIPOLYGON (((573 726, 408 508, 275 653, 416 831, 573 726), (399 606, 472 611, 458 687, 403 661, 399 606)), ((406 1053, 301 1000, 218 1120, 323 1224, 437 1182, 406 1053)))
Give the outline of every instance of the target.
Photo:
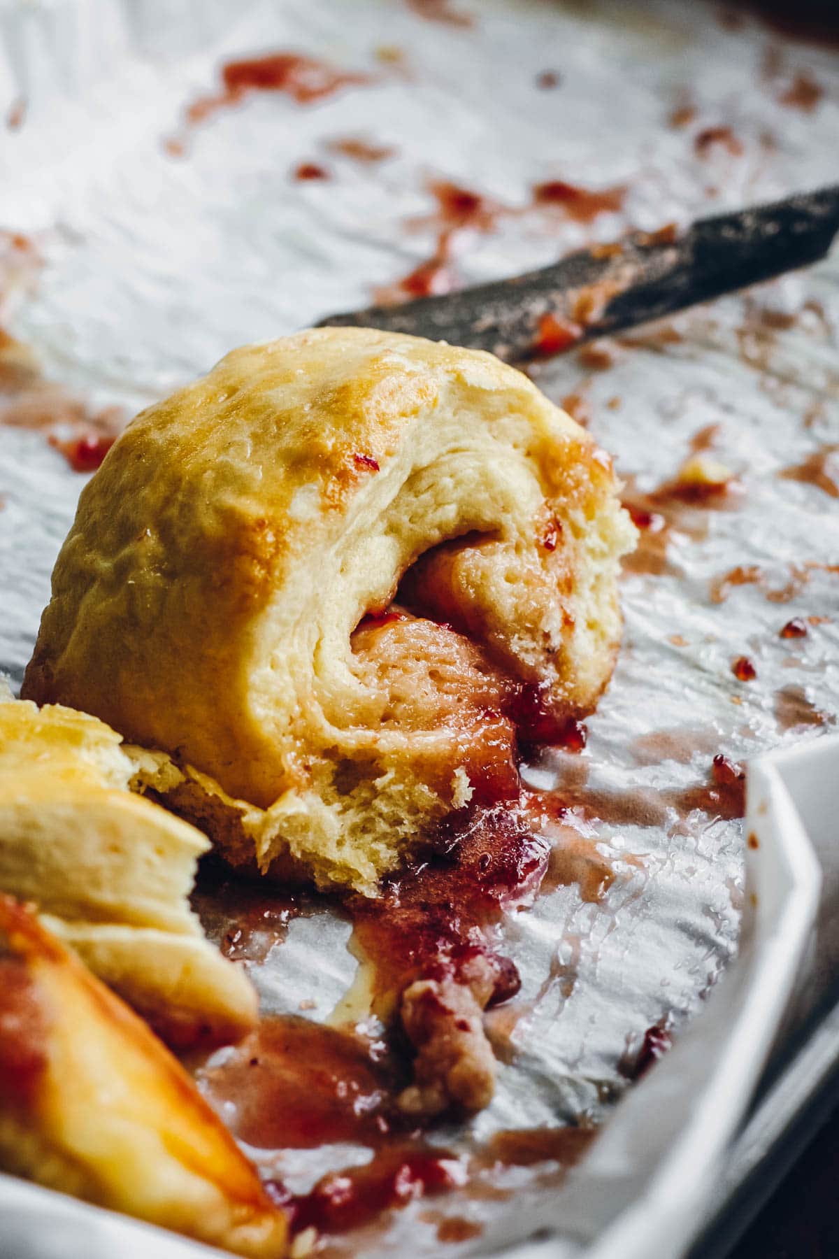
POLYGON ((0 696, 0 891, 34 901, 170 1042, 238 1039, 257 995, 187 900, 209 842, 132 794, 133 773, 97 718, 0 696))

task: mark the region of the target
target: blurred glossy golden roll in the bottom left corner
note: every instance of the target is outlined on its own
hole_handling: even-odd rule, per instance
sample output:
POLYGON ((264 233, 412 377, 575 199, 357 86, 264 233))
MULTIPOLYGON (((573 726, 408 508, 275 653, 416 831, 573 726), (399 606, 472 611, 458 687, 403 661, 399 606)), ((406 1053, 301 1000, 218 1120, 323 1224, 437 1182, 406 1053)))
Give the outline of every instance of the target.
POLYGON ((242 1255, 286 1220, 180 1064, 0 894, 0 1166, 242 1255))

